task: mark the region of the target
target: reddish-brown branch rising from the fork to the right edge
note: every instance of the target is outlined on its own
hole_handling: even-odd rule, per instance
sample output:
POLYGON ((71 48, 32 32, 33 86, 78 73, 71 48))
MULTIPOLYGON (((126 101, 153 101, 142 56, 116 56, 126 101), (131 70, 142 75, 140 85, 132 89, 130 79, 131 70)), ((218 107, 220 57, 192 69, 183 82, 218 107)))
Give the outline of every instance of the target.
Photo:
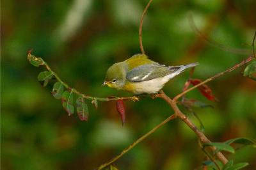
POLYGON ((188 93, 189 91, 191 91, 191 90, 193 90, 193 89, 195 89, 195 88, 198 88, 199 86, 202 86, 203 84, 205 84, 205 83, 207 83, 207 82, 209 82, 209 81, 212 81, 212 80, 214 80, 214 79, 220 77, 221 75, 224 75, 224 74, 226 74, 226 73, 228 73, 228 72, 232 72, 232 71, 235 70, 236 68, 239 68, 239 66, 243 66, 243 65, 245 65, 246 63, 252 61, 252 59, 253 59, 253 56, 250 56, 249 58, 247 58, 247 59, 241 61, 241 63, 238 63, 237 65, 234 65, 234 66, 232 66, 231 68, 228 68, 228 70, 225 70, 224 72, 217 73, 216 75, 214 75, 214 76, 212 76, 212 77, 206 79, 205 81, 200 82, 199 84, 196 84, 196 86, 193 86, 192 88, 189 88, 189 89, 183 91, 182 93, 180 93, 179 95, 177 95, 176 97, 174 97, 173 100, 176 102, 180 97, 184 96, 184 95, 185 95, 186 93, 188 93))

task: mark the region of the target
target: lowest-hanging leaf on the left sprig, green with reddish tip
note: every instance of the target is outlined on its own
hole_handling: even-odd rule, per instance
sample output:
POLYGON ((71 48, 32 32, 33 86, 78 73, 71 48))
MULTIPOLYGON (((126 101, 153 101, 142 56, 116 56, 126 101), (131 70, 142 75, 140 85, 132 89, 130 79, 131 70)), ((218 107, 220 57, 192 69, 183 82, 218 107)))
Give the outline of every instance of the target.
POLYGON ((84 98, 83 97, 78 97, 76 100, 76 109, 77 109, 77 115, 79 117, 79 119, 81 121, 87 121, 88 120, 88 116, 89 116, 89 112, 88 112, 88 106, 87 104, 84 102, 84 98))

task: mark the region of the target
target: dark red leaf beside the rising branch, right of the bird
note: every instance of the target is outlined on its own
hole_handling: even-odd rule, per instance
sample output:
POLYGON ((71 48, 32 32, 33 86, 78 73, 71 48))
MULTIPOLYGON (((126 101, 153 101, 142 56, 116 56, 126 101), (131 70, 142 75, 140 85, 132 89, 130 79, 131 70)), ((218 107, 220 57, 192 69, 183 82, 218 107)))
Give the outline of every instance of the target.
MULTIPOLYGON (((199 84, 202 81, 200 79, 190 79, 190 82, 191 84, 193 84, 193 86, 196 86, 196 84, 199 84)), ((204 95, 204 97, 206 97, 208 100, 218 101, 218 99, 212 94, 211 88, 209 88, 209 86, 207 86, 206 84, 199 86, 198 89, 202 93, 202 95, 204 95)))

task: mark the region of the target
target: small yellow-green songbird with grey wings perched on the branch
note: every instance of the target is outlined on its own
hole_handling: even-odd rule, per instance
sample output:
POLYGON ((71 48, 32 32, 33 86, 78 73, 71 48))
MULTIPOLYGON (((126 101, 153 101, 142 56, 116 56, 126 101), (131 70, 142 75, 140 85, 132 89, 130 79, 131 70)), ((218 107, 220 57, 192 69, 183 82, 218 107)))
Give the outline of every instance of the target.
POLYGON ((110 66, 102 86, 123 89, 135 95, 156 94, 170 79, 196 65, 198 63, 166 66, 148 59, 145 54, 136 54, 110 66))

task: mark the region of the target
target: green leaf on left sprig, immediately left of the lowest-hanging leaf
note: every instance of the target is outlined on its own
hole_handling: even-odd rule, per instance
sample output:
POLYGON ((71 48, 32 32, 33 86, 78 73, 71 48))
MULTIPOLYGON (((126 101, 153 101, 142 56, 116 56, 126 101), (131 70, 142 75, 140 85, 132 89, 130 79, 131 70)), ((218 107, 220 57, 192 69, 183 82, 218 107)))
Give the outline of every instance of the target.
POLYGON ((62 94, 62 97, 61 97, 62 106, 65 109, 65 111, 68 112, 68 116, 70 116, 71 114, 74 114, 73 99, 74 99, 73 91, 69 92, 66 90, 62 94))

